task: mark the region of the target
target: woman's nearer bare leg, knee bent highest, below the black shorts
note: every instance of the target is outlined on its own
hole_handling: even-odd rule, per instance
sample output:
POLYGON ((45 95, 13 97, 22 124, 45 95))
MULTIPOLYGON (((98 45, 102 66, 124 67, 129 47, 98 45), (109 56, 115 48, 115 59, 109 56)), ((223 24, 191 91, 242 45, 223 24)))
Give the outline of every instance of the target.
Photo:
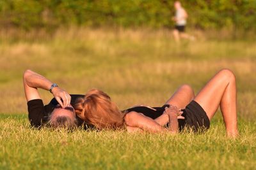
POLYGON ((228 136, 237 136, 236 77, 232 71, 222 69, 198 93, 195 101, 204 108, 211 120, 221 108, 228 136))

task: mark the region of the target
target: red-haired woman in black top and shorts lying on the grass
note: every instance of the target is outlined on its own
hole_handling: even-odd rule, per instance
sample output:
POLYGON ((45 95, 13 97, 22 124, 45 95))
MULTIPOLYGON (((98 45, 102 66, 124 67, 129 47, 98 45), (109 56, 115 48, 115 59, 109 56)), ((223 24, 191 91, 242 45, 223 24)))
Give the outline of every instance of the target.
POLYGON ((140 129, 174 134, 186 126, 195 132, 209 129, 210 120, 220 106, 227 135, 236 137, 238 134, 236 78, 228 69, 218 72, 195 97, 191 87, 183 85, 162 107, 136 106, 119 111, 110 97, 97 89, 77 99, 74 106, 78 117, 97 129, 125 126, 128 131, 140 129), (165 127, 167 123, 168 128, 165 127))

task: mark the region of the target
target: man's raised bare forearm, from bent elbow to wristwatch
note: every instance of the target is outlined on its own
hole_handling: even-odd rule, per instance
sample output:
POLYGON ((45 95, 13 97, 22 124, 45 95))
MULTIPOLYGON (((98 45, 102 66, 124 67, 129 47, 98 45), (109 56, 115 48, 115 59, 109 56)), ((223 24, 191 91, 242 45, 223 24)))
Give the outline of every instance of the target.
POLYGON ((24 72, 24 83, 26 83, 26 85, 29 87, 33 87, 35 89, 40 88, 44 90, 49 90, 52 85, 52 81, 31 70, 26 70, 24 72))

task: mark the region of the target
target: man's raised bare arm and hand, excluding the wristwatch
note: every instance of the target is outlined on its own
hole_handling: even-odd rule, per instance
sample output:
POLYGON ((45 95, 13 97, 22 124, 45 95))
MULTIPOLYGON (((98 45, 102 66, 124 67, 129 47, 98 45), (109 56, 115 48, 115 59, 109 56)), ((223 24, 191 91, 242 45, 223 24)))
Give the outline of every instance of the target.
MULTIPOLYGON (((33 99, 41 99, 37 90, 38 88, 49 90, 53 83, 44 76, 28 69, 23 74, 23 84, 26 99, 27 101, 31 101, 33 99)), ((62 107, 66 107, 70 104, 70 95, 65 90, 60 89, 60 87, 54 87, 52 94, 62 107)))

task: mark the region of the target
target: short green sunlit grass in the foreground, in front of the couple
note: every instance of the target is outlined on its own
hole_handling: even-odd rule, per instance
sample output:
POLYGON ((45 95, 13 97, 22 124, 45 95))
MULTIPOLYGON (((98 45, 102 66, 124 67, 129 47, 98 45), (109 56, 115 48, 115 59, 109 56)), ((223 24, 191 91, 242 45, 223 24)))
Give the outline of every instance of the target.
POLYGON ((253 169, 255 123, 227 139, 222 122, 205 134, 31 129, 26 117, 0 119, 1 169, 253 169))

